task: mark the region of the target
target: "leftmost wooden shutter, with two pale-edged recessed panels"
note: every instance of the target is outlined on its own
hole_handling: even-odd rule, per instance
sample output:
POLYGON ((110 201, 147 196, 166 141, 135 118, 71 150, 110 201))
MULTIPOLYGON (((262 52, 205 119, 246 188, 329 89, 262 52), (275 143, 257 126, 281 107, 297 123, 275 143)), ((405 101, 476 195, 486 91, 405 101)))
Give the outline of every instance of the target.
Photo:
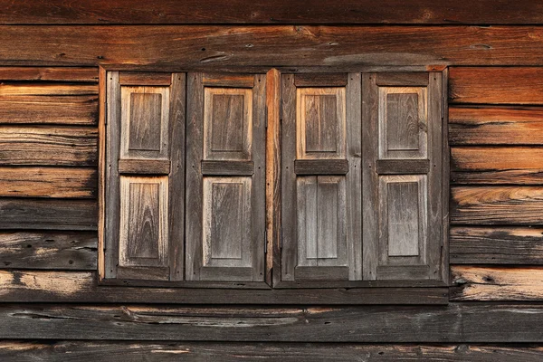
POLYGON ((106 278, 181 280, 185 75, 111 71, 107 97, 106 278))

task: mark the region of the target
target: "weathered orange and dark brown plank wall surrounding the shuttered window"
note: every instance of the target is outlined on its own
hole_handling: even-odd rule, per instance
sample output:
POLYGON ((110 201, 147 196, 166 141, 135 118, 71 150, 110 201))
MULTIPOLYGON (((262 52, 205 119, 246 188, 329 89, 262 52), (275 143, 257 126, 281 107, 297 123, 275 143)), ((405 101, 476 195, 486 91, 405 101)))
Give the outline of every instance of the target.
POLYGON ((157 2, 149 11, 138 1, 5 3, 0 359, 543 358, 541 5, 236 0, 222 11, 210 0, 157 2), (369 297, 333 290, 314 303, 277 297, 256 306, 251 295, 259 291, 244 291, 228 297, 232 306, 193 305, 197 291, 98 287, 99 64, 168 71, 448 65, 450 303, 409 305, 407 297, 384 306, 377 304, 386 296, 374 296, 375 305, 340 306, 369 297))

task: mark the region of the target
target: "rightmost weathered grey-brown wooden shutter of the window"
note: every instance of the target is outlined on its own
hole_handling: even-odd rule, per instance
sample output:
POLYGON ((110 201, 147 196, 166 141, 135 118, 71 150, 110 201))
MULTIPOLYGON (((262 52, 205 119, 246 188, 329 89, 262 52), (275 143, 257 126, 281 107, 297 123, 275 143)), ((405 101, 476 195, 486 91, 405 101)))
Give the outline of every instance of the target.
POLYGON ((363 75, 364 280, 437 280, 442 74, 363 75))

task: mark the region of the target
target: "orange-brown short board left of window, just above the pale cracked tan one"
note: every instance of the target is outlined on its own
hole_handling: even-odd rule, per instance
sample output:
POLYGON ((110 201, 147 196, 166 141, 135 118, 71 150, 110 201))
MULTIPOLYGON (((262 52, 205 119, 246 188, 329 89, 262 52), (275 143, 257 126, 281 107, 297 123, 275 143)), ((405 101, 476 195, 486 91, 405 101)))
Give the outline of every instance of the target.
POLYGON ((0 123, 95 125, 96 119, 94 95, 0 97, 0 123))

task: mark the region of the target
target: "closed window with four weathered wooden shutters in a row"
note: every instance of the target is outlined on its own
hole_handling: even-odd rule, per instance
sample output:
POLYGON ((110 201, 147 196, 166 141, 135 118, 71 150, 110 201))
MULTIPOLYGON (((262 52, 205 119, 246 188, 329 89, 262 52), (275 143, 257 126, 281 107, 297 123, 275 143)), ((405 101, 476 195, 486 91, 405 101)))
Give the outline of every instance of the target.
POLYGON ((109 71, 103 281, 446 285, 443 74, 109 71))

